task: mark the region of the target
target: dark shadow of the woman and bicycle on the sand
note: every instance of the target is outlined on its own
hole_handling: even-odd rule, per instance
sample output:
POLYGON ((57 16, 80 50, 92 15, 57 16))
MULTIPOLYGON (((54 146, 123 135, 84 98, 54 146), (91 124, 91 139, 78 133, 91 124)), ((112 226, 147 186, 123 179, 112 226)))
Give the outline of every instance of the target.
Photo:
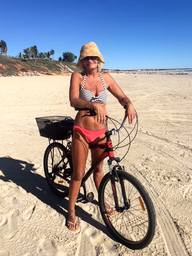
MULTIPOLYGON (((4 176, 0 175, 1 180, 4 182, 13 182, 21 186, 27 193, 33 194, 46 205, 50 205, 50 207, 64 215, 67 219, 68 200, 52 193, 46 179, 35 172, 37 169, 34 168, 34 164, 5 156, 0 158, 0 170, 4 174, 4 176), (63 209, 65 209, 66 212, 63 209)), ((77 200, 84 202, 84 195, 80 193, 77 200)), ((94 200, 92 203, 97 204, 97 201, 94 200)), ((75 211, 76 215, 82 220, 101 230, 114 240, 107 228, 100 222, 94 220, 91 214, 85 212, 78 205, 76 205, 75 211)))

